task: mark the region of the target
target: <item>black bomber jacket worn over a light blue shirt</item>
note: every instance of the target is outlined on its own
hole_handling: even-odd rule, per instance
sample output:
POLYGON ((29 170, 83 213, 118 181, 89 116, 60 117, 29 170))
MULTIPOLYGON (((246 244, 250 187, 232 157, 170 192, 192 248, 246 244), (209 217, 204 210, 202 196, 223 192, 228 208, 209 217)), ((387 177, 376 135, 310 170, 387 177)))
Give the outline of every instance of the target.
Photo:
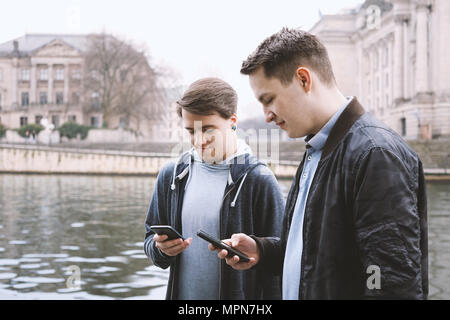
MULTIPOLYGON (((301 162, 286 203, 281 240, 253 238, 255 267, 283 270, 301 162)), ((357 102, 322 150, 304 214, 299 299, 426 299, 427 207, 422 164, 402 138, 357 102), (380 288, 373 275, 379 268, 380 288)))

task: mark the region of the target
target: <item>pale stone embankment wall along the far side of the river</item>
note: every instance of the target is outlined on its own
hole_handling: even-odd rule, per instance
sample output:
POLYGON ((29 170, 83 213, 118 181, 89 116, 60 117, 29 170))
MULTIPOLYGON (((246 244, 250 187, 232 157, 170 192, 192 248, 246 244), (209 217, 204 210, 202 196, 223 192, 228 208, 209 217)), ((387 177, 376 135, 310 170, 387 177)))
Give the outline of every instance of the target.
MULTIPOLYGON (((414 146, 423 160, 427 180, 450 180, 450 141, 427 144, 419 142, 414 143, 414 146)), ((260 158, 266 158, 278 179, 292 179, 304 152, 304 142, 282 142, 278 148, 278 158, 260 158)), ((187 146, 184 146, 184 150, 186 149, 187 146)), ((181 150, 182 146, 177 148, 176 144, 158 143, 55 146, 0 144, 0 172, 156 176, 164 165, 177 158, 181 150)))

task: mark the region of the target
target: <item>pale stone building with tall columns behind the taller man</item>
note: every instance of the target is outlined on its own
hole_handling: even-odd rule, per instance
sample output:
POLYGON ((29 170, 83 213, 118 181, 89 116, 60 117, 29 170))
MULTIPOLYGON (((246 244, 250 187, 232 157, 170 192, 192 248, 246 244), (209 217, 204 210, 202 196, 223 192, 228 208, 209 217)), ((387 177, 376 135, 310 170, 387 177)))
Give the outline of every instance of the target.
POLYGON ((405 139, 450 136, 450 1, 366 0, 312 27, 339 88, 405 139))

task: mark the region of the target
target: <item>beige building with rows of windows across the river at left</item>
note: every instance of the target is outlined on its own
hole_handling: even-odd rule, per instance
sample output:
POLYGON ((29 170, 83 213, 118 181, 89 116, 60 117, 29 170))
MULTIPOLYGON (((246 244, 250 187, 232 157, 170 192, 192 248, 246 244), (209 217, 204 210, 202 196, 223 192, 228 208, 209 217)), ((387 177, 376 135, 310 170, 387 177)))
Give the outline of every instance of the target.
MULTIPOLYGON (((101 127, 100 108, 83 107, 85 99, 95 98, 83 92, 87 46, 88 35, 58 34, 26 34, 0 44, 0 123, 15 129, 47 118, 55 127, 65 122, 101 127)), ((164 120, 164 125, 151 119, 134 123, 113 115, 108 126, 139 130, 148 140, 177 139, 166 131, 179 119, 164 120)))

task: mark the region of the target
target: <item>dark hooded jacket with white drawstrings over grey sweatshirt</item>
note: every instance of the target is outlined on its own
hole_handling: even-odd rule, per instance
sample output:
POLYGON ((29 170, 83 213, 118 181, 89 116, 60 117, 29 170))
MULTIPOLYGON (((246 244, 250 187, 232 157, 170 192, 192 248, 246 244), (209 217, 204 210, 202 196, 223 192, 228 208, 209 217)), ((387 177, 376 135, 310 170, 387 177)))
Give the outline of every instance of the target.
MULTIPOLYGON (((156 266, 170 267, 166 299, 178 299, 180 259, 179 256, 169 257, 155 247, 150 226, 171 225, 181 234, 183 232, 181 209, 189 165, 186 161, 177 164, 176 168, 175 165, 170 163, 160 171, 145 221, 145 253, 156 266)), ((243 232, 279 239, 284 199, 270 169, 254 156, 245 154, 235 158, 230 175, 232 182, 229 181, 225 188, 220 212, 220 238, 227 239, 234 233, 243 232)), ((267 276, 258 270, 236 271, 224 260, 221 260, 219 275, 220 299, 281 299, 279 276, 267 276)))

